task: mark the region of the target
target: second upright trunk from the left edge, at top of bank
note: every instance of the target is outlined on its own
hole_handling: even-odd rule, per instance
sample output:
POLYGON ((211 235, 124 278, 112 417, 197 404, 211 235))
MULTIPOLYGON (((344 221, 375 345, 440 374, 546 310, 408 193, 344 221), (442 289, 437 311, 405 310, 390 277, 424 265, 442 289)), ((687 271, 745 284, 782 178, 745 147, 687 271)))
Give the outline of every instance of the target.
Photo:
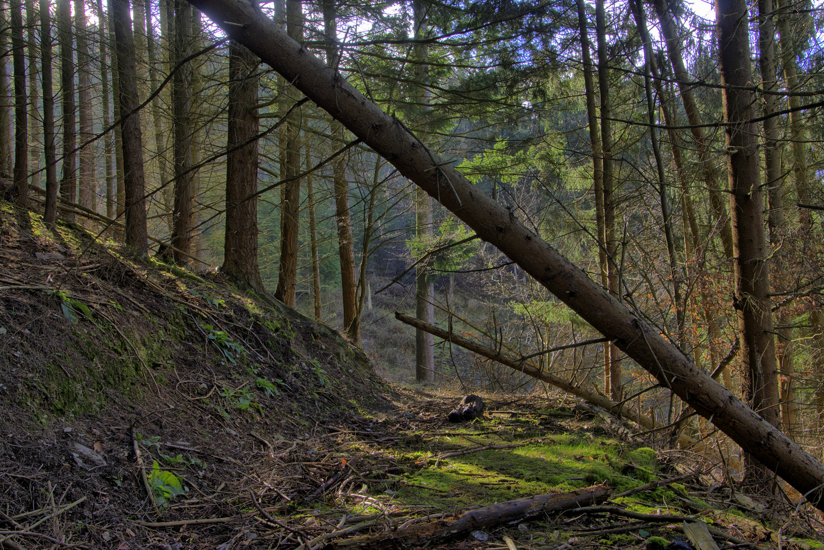
POLYGON ((14 64, 14 189, 16 201, 26 208, 29 201, 29 105, 26 96, 26 42, 20 0, 12 0, 12 59, 14 64))

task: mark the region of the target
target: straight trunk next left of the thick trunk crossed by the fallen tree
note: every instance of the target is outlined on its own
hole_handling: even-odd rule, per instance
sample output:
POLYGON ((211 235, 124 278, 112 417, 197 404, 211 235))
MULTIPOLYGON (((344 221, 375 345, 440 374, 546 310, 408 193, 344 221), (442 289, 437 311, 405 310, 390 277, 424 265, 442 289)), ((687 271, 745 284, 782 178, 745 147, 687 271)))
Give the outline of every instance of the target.
MULTIPOLYGON (((174 2, 175 40, 174 57, 177 63, 189 54, 189 34, 192 28, 192 8, 185 0, 174 2)), ((171 21, 172 17, 169 16, 171 21)), ((171 104, 175 120, 175 204, 172 208, 173 231, 171 245, 175 247, 175 262, 189 264, 192 247, 194 196, 192 181, 192 126, 191 126, 191 62, 183 63, 172 80, 171 104)))

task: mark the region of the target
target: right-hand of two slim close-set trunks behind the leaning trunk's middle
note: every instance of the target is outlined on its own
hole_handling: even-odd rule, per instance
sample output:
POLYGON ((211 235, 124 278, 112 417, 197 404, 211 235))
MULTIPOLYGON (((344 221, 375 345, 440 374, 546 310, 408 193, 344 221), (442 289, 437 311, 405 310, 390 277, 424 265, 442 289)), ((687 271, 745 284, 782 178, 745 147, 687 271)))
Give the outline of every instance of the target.
MULTIPOLYGON (((618 263, 616 261, 615 190, 612 184, 612 124, 610 105, 610 65, 606 51, 606 12, 604 1, 596 2, 596 27, 598 41, 598 88, 601 92, 601 147, 604 189, 604 243, 606 244, 606 278, 612 296, 618 297, 618 263)), ((615 344, 604 347, 604 393, 612 399, 621 399, 620 351, 615 344), (609 352, 607 357, 606 351, 609 352)))

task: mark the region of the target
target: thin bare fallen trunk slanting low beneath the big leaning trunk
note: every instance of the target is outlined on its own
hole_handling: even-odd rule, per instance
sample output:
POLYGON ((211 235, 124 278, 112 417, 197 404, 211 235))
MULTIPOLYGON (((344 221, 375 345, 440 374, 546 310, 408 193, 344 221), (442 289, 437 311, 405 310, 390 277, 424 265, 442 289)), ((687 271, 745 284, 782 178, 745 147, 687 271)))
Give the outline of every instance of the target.
MULTIPOLYGON (((461 346, 468 349, 471 352, 475 352, 478 355, 482 355, 487 357, 493 361, 498 361, 502 365, 506 365, 510 368, 515 369, 516 371, 521 371, 525 375, 530 375, 533 378, 546 382, 547 384, 554 385, 556 388, 563 389, 568 394, 573 394, 589 403, 595 404, 599 407, 606 408, 606 410, 610 411, 611 413, 620 414, 620 416, 625 417, 632 422, 635 422, 639 426, 646 428, 647 430, 654 430, 656 427, 655 422, 653 422, 652 418, 639 413, 634 408, 625 405, 616 403, 611 399, 597 394, 594 391, 589 391, 586 388, 582 388, 580 386, 576 386, 570 384, 568 380, 564 380, 559 376, 555 376, 546 372, 537 366, 533 365, 530 361, 523 361, 518 357, 512 357, 506 355, 504 353, 498 352, 491 347, 486 347, 480 343, 473 342, 469 338, 463 338, 462 336, 458 336, 455 333, 450 333, 447 330, 440 329, 433 324, 424 323, 424 321, 420 319, 416 319, 411 315, 406 315, 400 313, 400 311, 395 312, 395 318, 398 319, 401 323, 410 324, 415 329, 425 330, 426 332, 437 336, 438 338, 443 338, 444 340, 448 340, 456 346, 461 346)), ((695 445, 697 441, 692 439, 690 436, 684 436, 680 434, 678 436, 678 442, 684 446, 691 446, 695 445)))

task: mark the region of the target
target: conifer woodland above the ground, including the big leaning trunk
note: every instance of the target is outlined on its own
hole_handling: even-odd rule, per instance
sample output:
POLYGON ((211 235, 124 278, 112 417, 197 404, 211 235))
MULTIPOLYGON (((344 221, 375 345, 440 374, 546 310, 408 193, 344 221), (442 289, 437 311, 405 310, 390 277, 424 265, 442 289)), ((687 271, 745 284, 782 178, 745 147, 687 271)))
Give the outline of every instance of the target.
POLYGON ((386 379, 561 389, 824 510, 822 27, 806 0, 2 0, 0 187, 386 379))

